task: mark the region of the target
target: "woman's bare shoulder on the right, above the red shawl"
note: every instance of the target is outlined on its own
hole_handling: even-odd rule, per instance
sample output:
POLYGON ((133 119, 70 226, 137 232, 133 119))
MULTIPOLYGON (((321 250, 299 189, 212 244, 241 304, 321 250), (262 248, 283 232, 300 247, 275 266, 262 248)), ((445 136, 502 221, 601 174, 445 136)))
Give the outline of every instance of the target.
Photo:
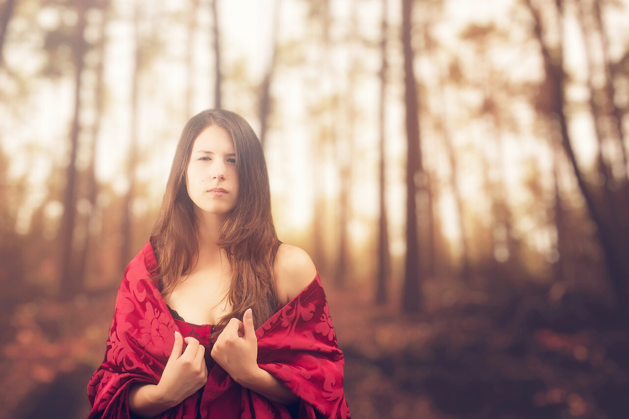
POLYGON ((282 243, 276 256, 277 298, 286 304, 315 279, 316 267, 308 253, 293 245, 282 243))

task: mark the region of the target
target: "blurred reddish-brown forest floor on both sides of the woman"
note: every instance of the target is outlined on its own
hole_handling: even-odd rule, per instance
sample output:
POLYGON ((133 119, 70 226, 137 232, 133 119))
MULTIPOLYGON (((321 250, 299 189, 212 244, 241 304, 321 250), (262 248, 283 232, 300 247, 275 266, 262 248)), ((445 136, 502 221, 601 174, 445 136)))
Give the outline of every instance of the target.
MULTIPOLYGON (((354 418, 625 418, 629 338, 587 294, 424 284, 422 310, 326 286, 354 418), (491 290, 491 291, 487 291, 491 290)), ((3 294, 0 418, 84 418, 115 290, 58 303, 3 294), (51 413, 55 415, 51 416, 51 413)))

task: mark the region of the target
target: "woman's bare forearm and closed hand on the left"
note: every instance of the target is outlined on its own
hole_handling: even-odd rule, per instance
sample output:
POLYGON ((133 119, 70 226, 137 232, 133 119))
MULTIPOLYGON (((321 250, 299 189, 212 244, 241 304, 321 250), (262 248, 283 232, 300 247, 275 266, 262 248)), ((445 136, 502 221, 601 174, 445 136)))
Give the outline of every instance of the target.
POLYGON ((205 365, 205 348, 192 337, 184 339, 175 332, 172 354, 164 367, 158 384, 133 384, 129 389, 129 408, 144 418, 159 415, 179 405, 184 399, 202 388, 208 381, 205 365))

